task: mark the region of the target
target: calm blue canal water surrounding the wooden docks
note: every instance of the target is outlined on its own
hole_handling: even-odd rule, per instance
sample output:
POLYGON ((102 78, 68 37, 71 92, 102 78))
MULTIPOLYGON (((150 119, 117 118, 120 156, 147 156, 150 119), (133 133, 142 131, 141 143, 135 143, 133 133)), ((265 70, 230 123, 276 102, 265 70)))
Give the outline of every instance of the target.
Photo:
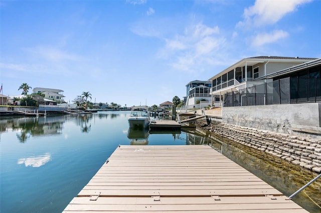
MULTIPOLYGON (((127 123, 129 113, 105 111, 46 118, 2 117, 0 211, 61 212, 119 144, 211 143, 286 195, 306 182, 299 174, 287 170, 286 164, 283 168, 271 165, 266 161, 268 155, 253 156, 253 151, 218 143, 195 132, 132 131, 127 123)), ((293 200, 311 212, 319 212, 307 197, 299 195, 293 200)))

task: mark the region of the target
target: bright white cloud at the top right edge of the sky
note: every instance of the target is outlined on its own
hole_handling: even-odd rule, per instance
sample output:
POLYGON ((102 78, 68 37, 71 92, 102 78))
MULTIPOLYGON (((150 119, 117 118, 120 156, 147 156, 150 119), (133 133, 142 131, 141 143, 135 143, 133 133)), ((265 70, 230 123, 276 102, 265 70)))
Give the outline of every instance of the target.
POLYGON ((244 9, 244 20, 237 25, 261 26, 274 24, 286 14, 311 0, 256 0, 253 6, 244 9))

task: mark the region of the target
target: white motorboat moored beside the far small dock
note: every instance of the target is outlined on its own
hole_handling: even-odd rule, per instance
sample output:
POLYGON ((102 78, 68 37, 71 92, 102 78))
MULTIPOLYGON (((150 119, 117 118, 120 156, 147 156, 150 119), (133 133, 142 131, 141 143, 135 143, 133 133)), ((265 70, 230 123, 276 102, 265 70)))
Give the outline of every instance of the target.
POLYGON ((148 128, 150 123, 149 111, 146 106, 133 106, 128 117, 130 128, 148 128))

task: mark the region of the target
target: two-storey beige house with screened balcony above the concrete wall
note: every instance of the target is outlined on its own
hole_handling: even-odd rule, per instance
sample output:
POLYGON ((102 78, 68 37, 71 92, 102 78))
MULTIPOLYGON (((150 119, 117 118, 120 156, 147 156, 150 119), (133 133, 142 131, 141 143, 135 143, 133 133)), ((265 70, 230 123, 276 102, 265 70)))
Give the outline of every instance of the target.
POLYGON ((221 97, 224 106, 272 104, 273 79, 262 77, 315 59, 280 56, 243 58, 209 79, 212 81, 212 105, 215 95, 221 97))

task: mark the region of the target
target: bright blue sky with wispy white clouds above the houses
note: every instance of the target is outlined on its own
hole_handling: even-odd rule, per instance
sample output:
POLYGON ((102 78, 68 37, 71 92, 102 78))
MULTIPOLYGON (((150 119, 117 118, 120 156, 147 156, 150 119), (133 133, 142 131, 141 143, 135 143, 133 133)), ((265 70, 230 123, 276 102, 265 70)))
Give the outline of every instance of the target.
MULTIPOLYGON (((245 57, 321 57, 321 0, 1 0, 0 82, 153 105, 245 57)), ((32 90, 32 89, 31 89, 32 90)), ((30 92, 29 92, 30 93, 30 92)))

